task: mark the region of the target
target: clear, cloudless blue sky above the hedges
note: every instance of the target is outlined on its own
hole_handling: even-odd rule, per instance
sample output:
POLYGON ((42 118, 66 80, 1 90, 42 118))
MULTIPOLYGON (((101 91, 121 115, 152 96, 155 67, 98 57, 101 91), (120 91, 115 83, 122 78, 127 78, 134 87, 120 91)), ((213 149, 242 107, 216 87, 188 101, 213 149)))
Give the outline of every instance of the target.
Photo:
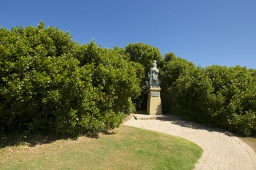
POLYGON ((56 26, 102 47, 143 42, 198 66, 256 69, 256 0, 3 0, 0 26, 56 26))

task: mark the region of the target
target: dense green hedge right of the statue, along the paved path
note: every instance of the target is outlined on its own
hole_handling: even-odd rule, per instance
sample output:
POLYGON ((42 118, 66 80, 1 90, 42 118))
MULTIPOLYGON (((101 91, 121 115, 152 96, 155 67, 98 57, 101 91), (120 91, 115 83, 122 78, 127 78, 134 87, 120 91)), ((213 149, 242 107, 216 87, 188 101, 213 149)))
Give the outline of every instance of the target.
POLYGON ((169 53, 162 70, 164 112, 240 134, 256 134, 255 69, 200 68, 169 53))

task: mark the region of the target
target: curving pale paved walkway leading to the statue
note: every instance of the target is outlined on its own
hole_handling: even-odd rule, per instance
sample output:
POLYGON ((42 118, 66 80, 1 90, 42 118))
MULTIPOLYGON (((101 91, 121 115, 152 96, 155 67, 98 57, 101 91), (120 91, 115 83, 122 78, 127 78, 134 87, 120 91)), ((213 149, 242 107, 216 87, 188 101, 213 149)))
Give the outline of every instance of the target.
POLYGON ((150 116, 147 119, 146 115, 137 115, 137 118, 138 120, 135 120, 132 117, 124 122, 124 125, 181 136, 202 147, 203 155, 195 165, 195 169, 256 170, 255 151, 238 137, 226 134, 225 131, 173 116, 157 117, 157 120, 152 120, 150 116))

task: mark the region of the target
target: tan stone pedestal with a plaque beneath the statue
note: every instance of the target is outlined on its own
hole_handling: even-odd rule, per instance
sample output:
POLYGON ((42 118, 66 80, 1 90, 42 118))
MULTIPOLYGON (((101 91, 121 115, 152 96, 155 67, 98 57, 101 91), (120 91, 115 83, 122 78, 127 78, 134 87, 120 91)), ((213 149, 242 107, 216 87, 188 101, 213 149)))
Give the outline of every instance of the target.
POLYGON ((162 115, 160 91, 161 88, 148 88, 148 115, 162 115))

